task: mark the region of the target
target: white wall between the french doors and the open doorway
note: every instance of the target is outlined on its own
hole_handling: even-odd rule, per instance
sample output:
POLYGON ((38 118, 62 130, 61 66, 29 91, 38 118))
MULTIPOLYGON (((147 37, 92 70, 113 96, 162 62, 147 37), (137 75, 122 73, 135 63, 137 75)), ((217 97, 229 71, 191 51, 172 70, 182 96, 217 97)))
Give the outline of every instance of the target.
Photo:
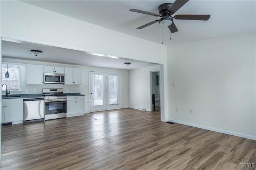
POLYGON ((160 66, 150 66, 129 71, 129 104, 131 108, 146 108, 150 111, 150 70, 159 70, 160 66))

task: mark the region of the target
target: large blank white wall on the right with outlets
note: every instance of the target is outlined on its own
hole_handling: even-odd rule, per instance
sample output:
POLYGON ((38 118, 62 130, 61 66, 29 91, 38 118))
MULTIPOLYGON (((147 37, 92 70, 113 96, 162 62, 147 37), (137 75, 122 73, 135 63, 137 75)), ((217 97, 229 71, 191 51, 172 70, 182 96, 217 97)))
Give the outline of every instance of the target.
POLYGON ((255 32, 168 47, 169 120, 255 140, 255 48, 255 32))

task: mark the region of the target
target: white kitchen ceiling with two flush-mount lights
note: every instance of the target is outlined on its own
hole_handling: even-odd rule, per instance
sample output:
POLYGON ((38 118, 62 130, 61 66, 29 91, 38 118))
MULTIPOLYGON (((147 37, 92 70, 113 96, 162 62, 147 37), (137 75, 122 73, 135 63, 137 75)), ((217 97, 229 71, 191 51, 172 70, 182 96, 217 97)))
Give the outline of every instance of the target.
MULTIPOLYGON (((15 41, 15 40, 14 40, 15 41)), ((153 63, 135 61, 130 59, 114 59, 97 55, 90 55, 83 51, 52 47, 22 41, 2 41, 2 57, 12 59, 24 59, 30 61, 44 61, 51 63, 75 64, 83 66, 95 66, 104 68, 115 68, 122 70, 132 70, 146 66, 153 66, 153 63), (34 56, 29 50, 43 51, 41 55, 34 56), (125 66, 124 63, 131 63, 125 66)))

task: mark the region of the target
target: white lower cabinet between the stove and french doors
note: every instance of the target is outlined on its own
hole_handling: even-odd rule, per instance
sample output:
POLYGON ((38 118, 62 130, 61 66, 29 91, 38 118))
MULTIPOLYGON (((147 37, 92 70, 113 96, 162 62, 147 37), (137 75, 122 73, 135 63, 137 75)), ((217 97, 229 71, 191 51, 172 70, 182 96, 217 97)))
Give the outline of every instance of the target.
POLYGON ((67 96, 67 117, 84 115, 84 96, 67 96))

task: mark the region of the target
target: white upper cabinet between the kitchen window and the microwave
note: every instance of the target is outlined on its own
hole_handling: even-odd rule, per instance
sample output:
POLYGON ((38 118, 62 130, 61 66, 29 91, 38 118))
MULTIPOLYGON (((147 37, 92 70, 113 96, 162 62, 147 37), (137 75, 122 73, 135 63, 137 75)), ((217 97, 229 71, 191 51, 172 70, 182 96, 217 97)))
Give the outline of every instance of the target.
POLYGON ((44 84, 44 66, 27 64, 26 84, 44 84))

